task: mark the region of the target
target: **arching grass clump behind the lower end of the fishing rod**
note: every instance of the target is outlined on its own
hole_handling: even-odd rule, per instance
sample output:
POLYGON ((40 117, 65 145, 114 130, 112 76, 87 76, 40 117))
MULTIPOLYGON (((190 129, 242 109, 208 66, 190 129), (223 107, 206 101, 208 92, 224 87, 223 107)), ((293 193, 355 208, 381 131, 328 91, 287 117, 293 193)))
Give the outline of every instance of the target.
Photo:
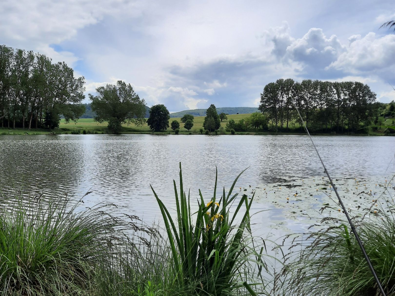
MULTIPOLYGON (((387 296, 395 295, 395 219, 393 204, 381 211, 367 209, 354 218, 365 250, 387 296), (357 217, 358 218, 358 217, 357 217)), ((291 251, 295 260, 286 267, 292 295, 381 295, 348 223, 326 217, 325 227, 298 236, 291 251), (297 254, 295 256, 295 254, 297 254)))

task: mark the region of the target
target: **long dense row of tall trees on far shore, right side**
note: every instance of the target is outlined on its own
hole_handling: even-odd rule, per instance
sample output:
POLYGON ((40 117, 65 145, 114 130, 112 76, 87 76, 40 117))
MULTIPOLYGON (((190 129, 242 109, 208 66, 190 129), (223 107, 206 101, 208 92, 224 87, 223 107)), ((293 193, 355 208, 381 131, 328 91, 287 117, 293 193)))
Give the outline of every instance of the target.
POLYGON ((278 79, 261 93, 259 110, 271 128, 284 130, 301 125, 296 108, 313 131, 356 131, 371 125, 378 105, 376 94, 361 82, 278 79))

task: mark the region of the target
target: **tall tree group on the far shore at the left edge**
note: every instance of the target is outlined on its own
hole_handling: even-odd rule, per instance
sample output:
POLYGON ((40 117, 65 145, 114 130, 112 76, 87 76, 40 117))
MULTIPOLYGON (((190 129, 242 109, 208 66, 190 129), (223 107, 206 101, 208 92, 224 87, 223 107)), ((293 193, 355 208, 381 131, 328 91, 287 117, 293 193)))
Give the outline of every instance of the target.
POLYGON ((85 112, 84 77, 44 54, 0 45, 0 127, 49 127, 85 112))

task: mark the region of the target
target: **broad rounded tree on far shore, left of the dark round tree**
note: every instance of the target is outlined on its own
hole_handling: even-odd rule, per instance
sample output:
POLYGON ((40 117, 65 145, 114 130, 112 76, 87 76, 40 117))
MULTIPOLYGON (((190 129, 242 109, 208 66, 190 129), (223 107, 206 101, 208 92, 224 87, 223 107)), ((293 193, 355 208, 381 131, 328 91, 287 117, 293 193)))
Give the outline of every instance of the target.
POLYGON ((140 99, 130 84, 117 81, 116 85, 107 84, 96 88, 97 96, 89 94, 94 120, 108 121, 108 128, 119 133, 122 124, 134 123, 137 126, 145 122, 145 101, 140 99))

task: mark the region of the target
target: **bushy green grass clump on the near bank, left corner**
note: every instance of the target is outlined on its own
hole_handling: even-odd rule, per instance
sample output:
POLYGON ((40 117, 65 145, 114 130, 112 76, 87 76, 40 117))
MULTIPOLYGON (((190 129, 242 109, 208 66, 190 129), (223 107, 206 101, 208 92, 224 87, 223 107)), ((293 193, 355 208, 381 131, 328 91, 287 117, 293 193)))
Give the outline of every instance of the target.
POLYGON ((113 266, 125 246, 136 253, 123 230, 152 232, 106 206, 79 205, 17 197, 2 206, 1 295, 96 295, 96 271, 113 266))

